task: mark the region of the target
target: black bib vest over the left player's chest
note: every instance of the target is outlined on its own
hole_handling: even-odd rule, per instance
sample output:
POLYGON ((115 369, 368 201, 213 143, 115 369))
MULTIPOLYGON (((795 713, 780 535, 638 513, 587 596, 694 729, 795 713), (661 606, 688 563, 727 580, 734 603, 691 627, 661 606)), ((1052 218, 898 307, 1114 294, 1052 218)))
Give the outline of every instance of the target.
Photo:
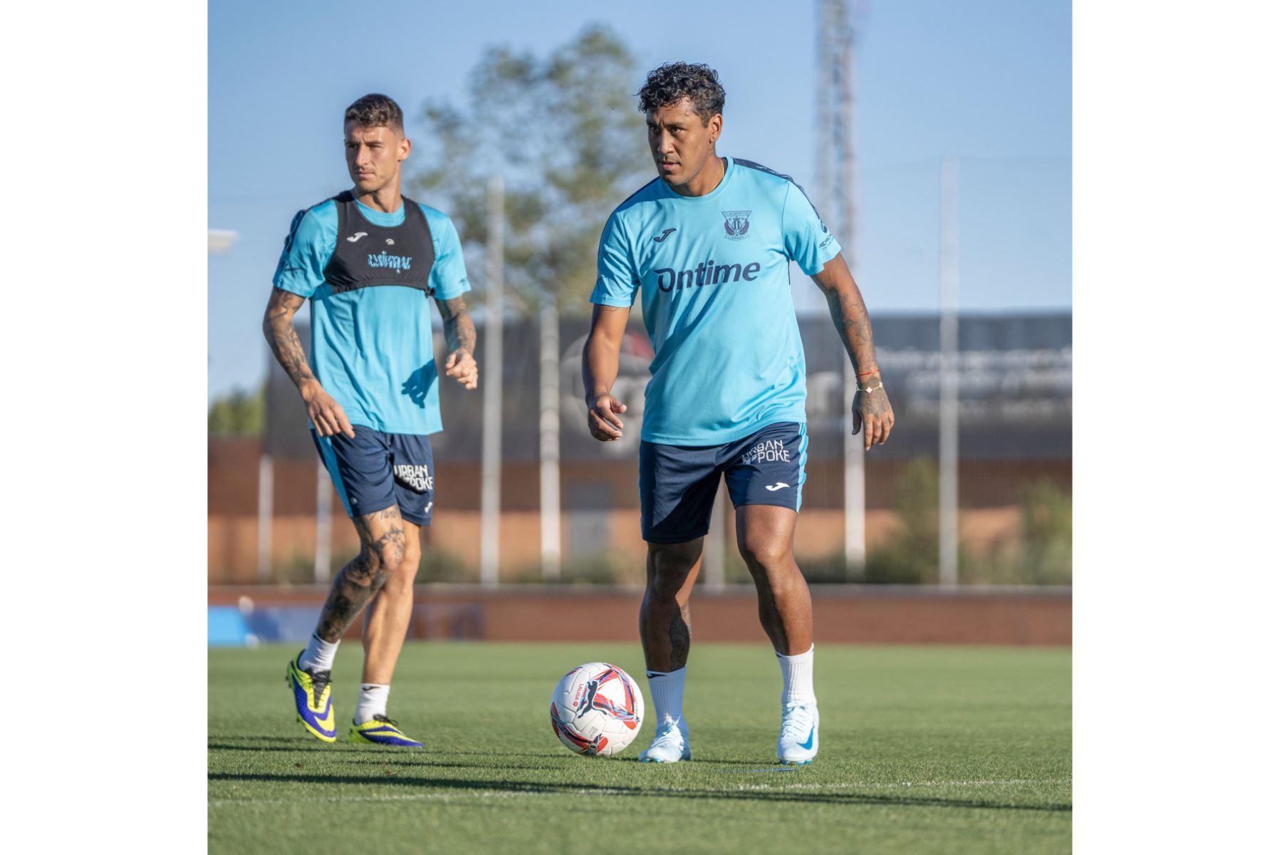
POLYGON ((376 285, 418 288, 431 297, 428 285, 436 251, 423 209, 401 196, 405 220, 400 226, 374 226, 356 208, 350 191, 333 197, 338 209, 338 240, 324 268, 324 281, 335 294, 376 285))

